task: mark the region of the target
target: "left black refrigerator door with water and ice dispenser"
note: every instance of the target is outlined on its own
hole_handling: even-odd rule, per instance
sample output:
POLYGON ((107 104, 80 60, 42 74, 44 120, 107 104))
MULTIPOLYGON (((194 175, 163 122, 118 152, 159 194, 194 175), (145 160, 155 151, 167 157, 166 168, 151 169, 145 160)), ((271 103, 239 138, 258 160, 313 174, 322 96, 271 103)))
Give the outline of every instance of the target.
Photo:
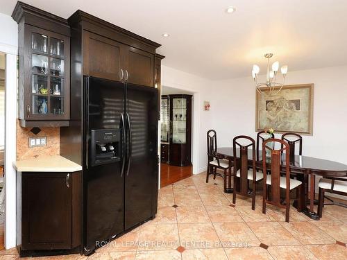
MULTIPOLYGON (((125 85, 99 78, 85 78, 85 157, 87 159, 84 174, 84 241, 85 250, 94 250, 97 241, 106 241, 115 234, 124 231, 124 174, 123 156, 117 162, 92 166, 91 132, 108 130, 118 132, 121 148, 124 148, 125 131, 122 119, 125 107, 125 85)), ((107 138, 106 138, 107 139, 107 138)), ((115 141, 115 140, 114 140, 115 141)), ((101 144, 105 153, 113 153, 111 144, 101 144)), ((117 143, 112 143, 117 144, 117 143)), ((100 153, 103 153, 102 150, 100 153)))

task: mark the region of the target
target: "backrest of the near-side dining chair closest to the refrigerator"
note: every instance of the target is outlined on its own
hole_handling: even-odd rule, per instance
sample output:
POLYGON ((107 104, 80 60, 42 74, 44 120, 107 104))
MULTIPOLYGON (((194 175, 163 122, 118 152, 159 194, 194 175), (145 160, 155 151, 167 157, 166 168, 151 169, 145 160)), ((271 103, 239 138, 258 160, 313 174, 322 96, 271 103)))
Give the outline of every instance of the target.
POLYGON ((232 140, 232 149, 234 155, 234 183, 236 180, 237 170, 240 170, 239 193, 248 194, 248 148, 252 149, 252 168, 253 180, 255 180, 255 141, 246 135, 239 135, 232 140), (246 142, 248 144, 241 144, 246 142), (239 148, 239 157, 237 156, 237 148, 239 148), (237 158, 238 157, 238 158, 237 158))

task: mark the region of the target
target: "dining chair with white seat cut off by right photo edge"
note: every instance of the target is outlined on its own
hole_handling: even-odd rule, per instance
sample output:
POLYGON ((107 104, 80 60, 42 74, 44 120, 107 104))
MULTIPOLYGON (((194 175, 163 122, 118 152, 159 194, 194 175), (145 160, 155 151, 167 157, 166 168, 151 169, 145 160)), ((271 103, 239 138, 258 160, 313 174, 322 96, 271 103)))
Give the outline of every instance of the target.
POLYGON ((325 191, 328 193, 334 193, 342 196, 347 196, 347 178, 346 177, 323 177, 318 183, 318 216, 322 217, 324 205, 339 205, 347 207, 347 205, 339 202, 324 203, 325 191))

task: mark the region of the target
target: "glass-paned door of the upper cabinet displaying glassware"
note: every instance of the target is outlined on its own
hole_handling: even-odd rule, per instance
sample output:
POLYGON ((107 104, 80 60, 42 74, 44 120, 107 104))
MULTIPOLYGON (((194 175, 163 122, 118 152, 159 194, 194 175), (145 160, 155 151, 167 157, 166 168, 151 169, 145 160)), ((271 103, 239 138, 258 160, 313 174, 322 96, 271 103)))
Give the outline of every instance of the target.
MULTIPOLYGON (((51 31, 26 25, 26 49, 22 70, 25 120, 68 120, 70 118, 70 39, 51 31)), ((19 90, 23 92, 23 90, 19 90)), ((22 102, 22 101, 21 101, 22 102)))

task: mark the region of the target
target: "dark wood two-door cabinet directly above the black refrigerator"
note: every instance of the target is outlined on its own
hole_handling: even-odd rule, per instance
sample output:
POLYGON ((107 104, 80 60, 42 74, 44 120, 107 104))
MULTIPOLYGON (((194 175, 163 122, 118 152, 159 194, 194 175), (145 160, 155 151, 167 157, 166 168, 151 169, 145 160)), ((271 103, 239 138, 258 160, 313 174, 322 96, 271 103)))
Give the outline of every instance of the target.
POLYGON ((81 10, 68 20, 80 45, 71 55, 82 53, 83 75, 155 87, 155 49, 160 44, 81 10))

